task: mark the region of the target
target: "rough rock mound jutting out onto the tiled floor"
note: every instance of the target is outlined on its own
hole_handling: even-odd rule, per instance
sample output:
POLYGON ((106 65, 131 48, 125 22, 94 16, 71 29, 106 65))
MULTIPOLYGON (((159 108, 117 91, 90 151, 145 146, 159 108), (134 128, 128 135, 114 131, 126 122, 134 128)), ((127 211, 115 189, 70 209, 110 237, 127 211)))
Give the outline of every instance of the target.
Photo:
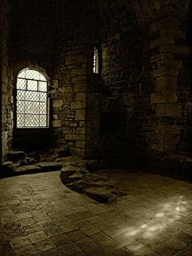
POLYGON ((67 158, 68 160, 65 161, 60 171, 60 178, 68 188, 76 192, 85 193, 87 196, 101 202, 114 201, 117 196, 123 194, 116 188, 114 183, 109 181, 107 176, 90 173, 85 168, 85 164, 89 163, 86 166, 89 166, 91 171, 98 170, 102 166, 102 161, 85 161, 81 157, 67 158))

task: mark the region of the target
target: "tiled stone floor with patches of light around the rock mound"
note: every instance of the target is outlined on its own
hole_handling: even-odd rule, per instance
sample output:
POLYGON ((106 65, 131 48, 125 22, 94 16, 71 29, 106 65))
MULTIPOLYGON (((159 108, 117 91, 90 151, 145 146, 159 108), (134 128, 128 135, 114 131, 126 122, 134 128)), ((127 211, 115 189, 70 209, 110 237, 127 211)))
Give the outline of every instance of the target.
POLYGON ((110 204, 72 192, 59 172, 0 179, 0 255, 192 255, 192 184, 112 174, 110 204))

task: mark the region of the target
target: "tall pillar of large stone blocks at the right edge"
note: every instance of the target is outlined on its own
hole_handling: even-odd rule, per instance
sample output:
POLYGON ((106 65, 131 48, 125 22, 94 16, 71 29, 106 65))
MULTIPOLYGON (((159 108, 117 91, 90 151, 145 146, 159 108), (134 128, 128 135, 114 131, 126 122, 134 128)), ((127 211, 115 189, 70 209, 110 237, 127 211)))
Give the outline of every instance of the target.
POLYGON ((191 97, 187 9, 177 3, 172 9, 170 7, 170 12, 168 17, 150 25, 154 39, 150 48, 154 52, 151 64, 155 82, 151 104, 156 111, 156 141, 151 148, 165 152, 189 151, 191 97))

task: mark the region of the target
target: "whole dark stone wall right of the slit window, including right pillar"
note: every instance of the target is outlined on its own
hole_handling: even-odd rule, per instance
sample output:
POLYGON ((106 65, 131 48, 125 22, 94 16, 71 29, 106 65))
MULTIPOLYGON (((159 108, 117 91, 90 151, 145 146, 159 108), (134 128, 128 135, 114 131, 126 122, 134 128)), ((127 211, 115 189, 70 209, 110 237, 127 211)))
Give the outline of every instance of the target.
POLYGON ((87 127, 95 132, 95 139, 89 139, 92 152, 124 156, 125 161, 133 160, 134 152, 143 161, 156 152, 190 150, 188 11, 187 1, 102 3, 103 92, 88 97, 89 106, 95 106, 89 108, 93 118, 87 127), (103 113, 114 116, 104 134, 103 113), (119 128, 111 134, 116 122, 119 128))

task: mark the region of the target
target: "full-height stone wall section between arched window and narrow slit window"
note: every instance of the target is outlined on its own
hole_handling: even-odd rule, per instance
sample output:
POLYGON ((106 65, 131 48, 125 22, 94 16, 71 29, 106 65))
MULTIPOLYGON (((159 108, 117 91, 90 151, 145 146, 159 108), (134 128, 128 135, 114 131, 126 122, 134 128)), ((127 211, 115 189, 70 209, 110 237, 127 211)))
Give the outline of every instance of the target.
POLYGON ((55 68, 58 84, 53 90, 54 138, 55 143, 60 146, 66 143, 72 154, 78 155, 85 155, 88 148, 85 143, 89 133, 87 100, 91 85, 88 85, 88 77, 89 73, 93 73, 95 7, 94 2, 89 5, 86 1, 72 1, 63 8, 59 5, 58 10, 55 68))

